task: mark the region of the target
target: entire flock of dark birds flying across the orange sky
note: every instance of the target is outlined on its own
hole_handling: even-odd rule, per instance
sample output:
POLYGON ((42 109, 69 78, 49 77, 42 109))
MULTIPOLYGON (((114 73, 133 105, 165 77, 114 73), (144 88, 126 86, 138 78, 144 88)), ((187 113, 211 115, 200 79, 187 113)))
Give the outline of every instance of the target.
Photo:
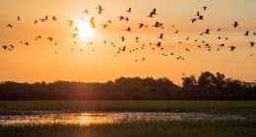
MULTIPOLYGON (((100 15, 103 13, 103 11, 104 11, 104 9, 103 9, 100 5, 98 5, 98 6, 96 7, 96 10, 97 10, 97 14, 98 14, 99 16, 100 16, 100 15)), ((203 12, 205 12, 205 11, 208 10, 208 7, 203 6, 203 7, 202 7, 202 10, 203 10, 203 12)), ((90 15, 90 11, 87 10, 87 9, 84 10, 82 13, 84 13, 84 14, 86 14, 86 15, 90 15)), ((127 13, 127 14, 133 14, 132 8, 128 8, 128 10, 126 11, 126 13, 127 13)), ((148 17, 149 19, 153 19, 153 18, 155 18, 155 17, 157 17, 157 16, 159 16, 159 15, 158 15, 158 10, 157 10, 157 8, 155 8, 155 9, 153 9, 153 10, 149 13, 149 15, 148 15, 147 17, 148 17)), ((107 28, 107 27, 112 23, 112 20, 108 20, 106 23, 97 24, 97 23, 95 22, 95 19, 96 19, 95 17, 92 17, 92 18, 90 19, 90 22, 89 22, 89 23, 91 24, 92 28, 96 28, 96 27, 102 26, 102 28, 104 29, 104 28, 107 28)), ((85 21, 84 18, 82 18, 82 20, 85 21)), ((127 23, 128 23, 128 22, 130 22, 130 20, 131 20, 131 19, 128 18, 127 16, 119 16, 119 17, 117 17, 117 22, 123 22, 123 21, 124 21, 124 22, 127 22, 127 23)), ((197 12, 196 15, 195 15, 195 17, 192 18, 190 21, 191 21, 191 23, 197 23, 197 22, 204 21, 204 20, 205 20, 205 18, 204 18, 204 16, 203 16, 203 14, 202 14, 201 12, 197 12)), ((21 21, 22 21, 22 18, 21 18, 21 17, 17 17, 17 22, 21 22, 21 21)), ((45 22, 48 22, 48 21, 51 21, 51 22, 58 22, 58 20, 57 20, 57 18, 56 18, 55 16, 52 16, 52 17, 45 16, 45 17, 43 17, 43 18, 41 18, 41 19, 36 19, 36 20, 34 20, 33 23, 34 23, 34 24, 35 24, 35 23, 45 23, 45 22)), ((71 27, 72 30, 73 30, 73 32, 72 32, 72 34, 71 34, 72 38, 74 38, 74 43, 73 43, 73 44, 77 44, 77 41, 75 40, 75 38, 77 38, 77 37, 79 36, 79 34, 78 34, 79 27, 78 27, 78 26, 75 26, 75 22, 74 22, 74 21, 69 20, 69 21, 67 21, 67 23, 68 23, 68 26, 71 27)), ((14 27, 13 24, 11 24, 11 23, 10 23, 10 24, 7 24, 6 26, 9 27, 10 29, 12 29, 12 28, 14 27)), ((239 24, 238 22, 233 22, 232 24, 230 23, 230 27, 233 27, 233 29, 235 29, 236 27, 239 27, 239 26, 240 26, 240 24, 239 24)), ((139 29, 142 29, 142 28, 149 28, 149 27, 156 27, 156 28, 159 28, 160 30, 165 29, 163 23, 160 23, 160 22, 156 22, 156 23, 154 23, 153 25, 149 25, 149 24, 146 24, 146 23, 138 23, 138 28, 139 28, 139 29)), ((175 25, 171 25, 171 27, 174 28, 175 25)), ((130 26, 127 26, 126 28, 124 28, 123 31, 134 32, 134 31, 133 31, 133 28, 130 27, 130 26)), ((199 37, 200 37, 200 36, 204 36, 204 35, 210 35, 212 31, 213 31, 213 30, 211 30, 210 28, 207 28, 205 31, 199 33, 199 37)), ((217 32, 222 31, 222 28, 217 28, 216 31, 217 31, 217 32)), ((174 32, 174 34, 177 34, 177 33, 179 33, 179 30, 176 30, 176 31, 174 32)), ((250 36, 250 35, 254 35, 254 36, 255 36, 255 35, 256 35, 256 32, 250 32, 249 30, 246 30, 243 35, 244 35, 244 36, 250 36)), ((115 42, 112 42, 112 41, 108 42, 107 40, 104 40, 104 41, 103 41, 103 44, 108 44, 108 43, 109 43, 111 46, 117 47, 117 52, 116 52, 116 54, 114 55, 115 57, 117 57, 117 55, 119 55, 119 54, 121 54, 121 53, 123 53, 123 52, 132 53, 132 52, 136 52, 136 51, 139 51, 139 50, 144 50, 144 49, 145 49, 146 47, 148 47, 148 46, 152 46, 152 50, 156 50, 156 49, 159 48, 160 51, 162 51, 162 54, 161 54, 162 56, 165 56, 165 57, 167 57, 167 56, 176 56, 176 57, 175 57, 176 60, 180 60, 180 61, 185 60, 185 58, 184 58, 183 56, 180 56, 180 55, 178 55, 178 54, 176 55, 176 54, 173 53, 173 52, 168 53, 168 54, 163 53, 163 51, 165 52, 165 49, 164 49, 164 46, 163 46, 161 40, 164 39, 164 36, 165 36, 165 35, 164 35, 163 32, 160 33, 160 36, 158 37, 158 39, 159 39, 158 41, 159 41, 159 42, 157 42, 157 43, 154 43, 154 42, 140 43, 140 38, 141 38, 141 37, 136 36, 136 37, 135 37, 135 42, 140 44, 140 47, 137 47, 137 48, 129 48, 129 47, 127 47, 127 46, 117 46, 117 44, 115 44, 115 42)), ((41 39, 41 38, 42 38, 42 36, 37 35, 37 36, 35 36, 34 40, 37 41, 37 40, 39 40, 39 39, 41 39)), ((124 35, 121 35, 119 39, 120 39, 121 42, 125 42, 125 41, 126 41, 126 37, 125 37, 124 35)), ((217 39, 218 39, 218 40, 224 39, 225 41, 229 40, 228 37, 222 37, 222 36, 219 36, 217 39)), ((47 37, 47 40, 48 40, 49 42, 54 42, 54 38, 53 38, 53 37, 47 37)), ((189 41, 189 40, 191 40, 190 37, 186 37, 186 38, 184 39, 184 41, 189 41)), ((182 44, 184 41, 179 41, 177 44, 180 45, 180 44, 182 44)), ((203 48, 204 48, 204 49, 207 49, 207 51, 209 51, 209 52, 213 51, 213 50, 214 50, 214 47, 217 47, 217 51, 220 51, 221 48, 224 48, 224 47, 229 48, 230 51, 234 51, 234 50, 237 49, 236 46, 233 46, 233 45, 227 46, 225 43, 221 43, 220 45, 212 45, 212 44, 208 43, 208 42, 205 41, 205 40, 201 40, 200 38, 198 38, 198 39, 193 39, 192 41, 197 43, 197 48, 199 48, 199 49, 203 49, 203 48)), ((21 41, 20 43, 21 43, 21 44, 24 44, 24 45, 27 45, 27 46, 31 45, 30 42, 28 42, 28 41, 25 41, 25 42, 24 42, 24 41, 21 41)), ((54 42, 54 44, 57 45, 58 43, 57 43, 57 42, 54 42)), ((88 44, 88 45, 93 45, 94 42, 89 42, 89 43, 87 43, 87 44, 88 44)), ((255 42, 254 42, 254 41, 249 41, 249 42, 248 42, 248 46, 254 47, 254 45, 255 45, 255 42)), ((15 49, 15 45, 12 45, 12 44, 10 44, 10 45, 4 45, 4 46, 2 46, 2 49, 5 50, 5 51, 12 51, 12 50, 15 49)), ((71 50, 74 51, 74 49, 71 49, 71 50)), ((185 48, 184 50, 185 50, 186 52, 191 52, 191 49, 189 49, 189 48, 185 48)), ((80 49, 80 51, 83 52, 82 49, 80 49)), ((93 50, 93 52, 95 52, 95 50, 93 50)), ((57 53, 57 51, 55 51, 55 53, 57 53)), ((254 54, 250 54, 250 56, 254 56, 254 54)), ((146 57, 144 57, 144 58, 142 58, 142 59, 136 59, 136 60, 135 60, 135 62, 140 62, 140 61, 141 61, 141 62, 146 61, 146 57)))

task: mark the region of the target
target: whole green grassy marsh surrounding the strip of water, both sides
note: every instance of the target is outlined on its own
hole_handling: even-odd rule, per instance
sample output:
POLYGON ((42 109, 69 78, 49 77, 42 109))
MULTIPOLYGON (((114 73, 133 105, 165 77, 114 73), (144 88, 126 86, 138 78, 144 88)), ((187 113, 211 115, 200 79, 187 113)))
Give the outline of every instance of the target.
POLYGON ((245 119, 122 121, 113 124, 0 125, 0 137, 255 137, 256 101, 0 102, 0 114, 182 112, 247 114, 245 119))

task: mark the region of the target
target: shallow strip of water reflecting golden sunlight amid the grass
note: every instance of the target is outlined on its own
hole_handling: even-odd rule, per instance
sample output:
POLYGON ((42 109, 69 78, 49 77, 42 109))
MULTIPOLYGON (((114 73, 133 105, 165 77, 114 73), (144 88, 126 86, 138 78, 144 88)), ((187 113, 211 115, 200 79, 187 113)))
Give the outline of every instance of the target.
POLYGON ((84 113, 84 114, 31 114, 0 115, 0 124, 102 124, 137 120, 183 120, 183 119, 243 119, 242 114, 202 113, 84 113))

